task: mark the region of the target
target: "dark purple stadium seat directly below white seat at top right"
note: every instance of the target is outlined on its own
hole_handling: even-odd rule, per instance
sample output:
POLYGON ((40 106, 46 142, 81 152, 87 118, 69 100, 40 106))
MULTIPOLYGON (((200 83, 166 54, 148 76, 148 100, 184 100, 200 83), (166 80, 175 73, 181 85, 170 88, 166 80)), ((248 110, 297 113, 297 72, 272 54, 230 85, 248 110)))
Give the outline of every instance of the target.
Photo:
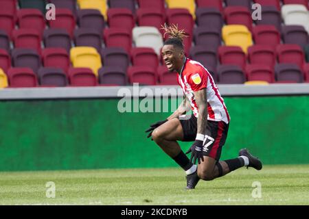
POLYGON ((304 48, 306 44, 309 43, 308 33, 306 29, 301 25, 283 26, 282 39, 285 44, 298 44, 301 48, 304 48))

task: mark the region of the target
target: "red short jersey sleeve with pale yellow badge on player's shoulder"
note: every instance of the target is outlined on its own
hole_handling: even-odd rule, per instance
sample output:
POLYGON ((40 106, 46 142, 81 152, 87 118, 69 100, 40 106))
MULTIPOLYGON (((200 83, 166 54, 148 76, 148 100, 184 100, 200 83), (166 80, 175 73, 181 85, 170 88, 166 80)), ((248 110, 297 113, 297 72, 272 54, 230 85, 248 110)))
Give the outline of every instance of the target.
POLYGON ((193 91, 202 90, 203 88, 207 88, 207 72, 199 68, 196 72, 192 72, 188 75, 188 83, 190 84, 193 91))

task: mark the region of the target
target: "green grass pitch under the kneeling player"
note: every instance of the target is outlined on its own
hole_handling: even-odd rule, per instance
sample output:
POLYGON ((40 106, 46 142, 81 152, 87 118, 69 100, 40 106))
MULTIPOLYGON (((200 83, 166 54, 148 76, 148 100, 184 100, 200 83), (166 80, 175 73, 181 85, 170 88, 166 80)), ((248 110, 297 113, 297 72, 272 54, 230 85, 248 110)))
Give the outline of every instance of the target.
POLYGON ((180 168, 0 172, 0 205, 308 205, 309 164, 240 168, 184 190, 180 168), (46 183, 55 183, 47 198, 46 183), (253 198, 253 182, 261 198, 253 198))

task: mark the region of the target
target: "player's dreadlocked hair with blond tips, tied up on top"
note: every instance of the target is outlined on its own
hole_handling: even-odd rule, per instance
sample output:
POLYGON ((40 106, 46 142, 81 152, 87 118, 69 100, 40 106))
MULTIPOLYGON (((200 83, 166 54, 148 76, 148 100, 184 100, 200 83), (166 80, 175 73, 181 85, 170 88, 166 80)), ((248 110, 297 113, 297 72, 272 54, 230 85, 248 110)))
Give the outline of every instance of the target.
POLYGON ((161 25, 161 29, 165 31, 163 38, 165 34, 169 34, 170 36, 168 40, 165 40, 164 45, 174 45, 176 47, 179 47, 180 49, 183 49, 183 38, 187 37, 187 34, 183 29, 178 29, 178 25, 161 25))

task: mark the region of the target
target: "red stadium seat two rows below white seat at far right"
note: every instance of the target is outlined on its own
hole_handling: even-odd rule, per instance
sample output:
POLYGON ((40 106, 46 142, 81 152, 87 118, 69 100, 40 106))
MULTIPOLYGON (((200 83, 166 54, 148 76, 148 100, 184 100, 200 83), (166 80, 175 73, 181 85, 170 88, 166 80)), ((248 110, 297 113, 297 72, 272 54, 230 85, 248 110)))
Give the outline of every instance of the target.
POLYGON ((303 68, 305 62, 304 51, 297 44, 281 44, 277 46, 278 63, 293 63, 303 68))

